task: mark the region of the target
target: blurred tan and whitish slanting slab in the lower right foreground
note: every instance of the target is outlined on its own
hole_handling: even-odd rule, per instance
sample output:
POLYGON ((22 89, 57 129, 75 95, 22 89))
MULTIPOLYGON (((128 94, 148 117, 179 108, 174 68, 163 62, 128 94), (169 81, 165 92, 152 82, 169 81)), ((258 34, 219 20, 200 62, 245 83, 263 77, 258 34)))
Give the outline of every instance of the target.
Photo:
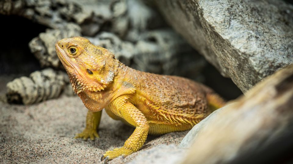
POLYGON ((255 157, 253 154, 269 149, 270 145, 292 132, 293 65, 264 79, 246 97, 236 101, 192 128, 180 144, 182 147, 192 145, 182 163, 235 163, 237 159, 242 159, 238 161, 240 163, 278 163, 284 159, 282 155, 286 156, 285 153, 290 152, 291 156, 289 150, 282 152, 290 142, 278 144, 273 154, 274 150, 270 149, 271 155, 264 153, 255 157))

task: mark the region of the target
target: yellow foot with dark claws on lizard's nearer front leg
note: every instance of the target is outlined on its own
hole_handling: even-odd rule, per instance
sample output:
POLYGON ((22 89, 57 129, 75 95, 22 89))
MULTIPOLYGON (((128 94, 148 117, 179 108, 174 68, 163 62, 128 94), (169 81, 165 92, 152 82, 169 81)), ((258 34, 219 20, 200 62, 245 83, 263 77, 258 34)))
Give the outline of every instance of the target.
POLYGON ((120 155, 122 155, 123 157, 126 157, 127 155, 132 154, 132 153, 133 153, 132 150, 126 149, 124 147, 115 148, 112 151, 105 152, 105 154, 101 158, 101 161, 103 159, 105 159, 104 163, 107 163, 109 160, 114 159, 120 155))

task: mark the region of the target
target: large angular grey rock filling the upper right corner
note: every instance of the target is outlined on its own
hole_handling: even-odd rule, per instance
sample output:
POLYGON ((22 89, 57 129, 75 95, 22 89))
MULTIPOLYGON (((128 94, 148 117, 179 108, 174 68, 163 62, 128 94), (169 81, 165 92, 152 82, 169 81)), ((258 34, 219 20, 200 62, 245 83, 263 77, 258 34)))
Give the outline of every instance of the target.
POLYGON ((243 91, 293 63, 293 6, 279 0, 160 0, 174 29, 243 91))

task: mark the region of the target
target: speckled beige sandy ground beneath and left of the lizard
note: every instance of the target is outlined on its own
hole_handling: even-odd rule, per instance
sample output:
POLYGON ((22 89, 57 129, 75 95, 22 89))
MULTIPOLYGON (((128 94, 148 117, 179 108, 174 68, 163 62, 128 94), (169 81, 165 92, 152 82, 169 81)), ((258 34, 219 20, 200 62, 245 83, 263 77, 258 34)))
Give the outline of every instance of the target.
MULTIPOLYGON (((102 163, 102 154, 123 146, 134 128, 102 114, 100 138, 74 139, 85 128, 87 109, 79 97, 61 96, 33 105, 0 101, 0 163, 102 163)), ((127 163, 142 151, 159 144, 179 145, 185 132, 148 136, 139 152, 109 163, 127 163)))

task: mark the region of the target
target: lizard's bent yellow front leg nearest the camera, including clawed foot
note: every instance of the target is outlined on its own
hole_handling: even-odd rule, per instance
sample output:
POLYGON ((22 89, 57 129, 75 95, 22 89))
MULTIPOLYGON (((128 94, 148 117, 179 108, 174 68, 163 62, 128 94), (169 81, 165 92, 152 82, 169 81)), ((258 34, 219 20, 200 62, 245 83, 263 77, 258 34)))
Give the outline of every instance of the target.
POLYGON ((147 119, 144 117, 143 113, 139 111, 133 104, 127 101, 118 101, 113 104, 118 104, 117 109, 119 117, 125 119, 125 121, 135 126, 136 128, 132 135, 126 140, 123 147, 105 152, 101 158, 101 160, 106 158, 105 162, 120 155, 125 157, 132 154, 133 152, 138 151, 146 141, 149 131, 149 124, 147 119), (119 103, 121 103, 121 105, 119 105, 119 103))

